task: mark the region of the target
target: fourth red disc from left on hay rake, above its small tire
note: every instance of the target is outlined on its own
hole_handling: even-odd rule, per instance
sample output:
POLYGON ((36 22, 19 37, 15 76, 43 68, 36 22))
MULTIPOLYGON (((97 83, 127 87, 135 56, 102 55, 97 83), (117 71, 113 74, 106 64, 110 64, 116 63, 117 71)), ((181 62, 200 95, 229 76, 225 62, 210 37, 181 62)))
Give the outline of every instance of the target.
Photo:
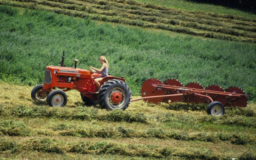
MULTIPOLYGON (((225 92, 225 90, 218 85, 209 85, 208 87, 205 88, 205 90, 225 92)), ((212 98, 213 101, 219 101, 220 103, 223 104, 223 106, 225 106, 226 101, 227 101, 227 96, 216 94, 216 93, 207 93, 207 94, 212 98)), ((210 103, 210 101, 209 101, 209 103, 210 103)))

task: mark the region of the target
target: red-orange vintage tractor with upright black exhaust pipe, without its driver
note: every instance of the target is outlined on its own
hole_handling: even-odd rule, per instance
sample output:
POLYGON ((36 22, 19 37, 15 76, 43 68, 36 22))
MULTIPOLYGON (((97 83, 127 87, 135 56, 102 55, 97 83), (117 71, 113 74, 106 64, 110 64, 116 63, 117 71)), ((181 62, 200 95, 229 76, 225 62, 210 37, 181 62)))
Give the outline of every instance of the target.
POLYGON ((32 92, 33 100, 45 101, 50 106, 65 106, 68 98, 66 91, 76 89, 80 92, 85 105, 99 104, 101 108, 126 109, 131 102, 131 90, 122 77, 106 76, 100 82, 100 89, 94 79, 101 74, 86 69, 64 67, 64 52, 61 67, 46 66, 44 84, 36 85, 32 92), (55 87, 59 89, 55 90, 55 87))

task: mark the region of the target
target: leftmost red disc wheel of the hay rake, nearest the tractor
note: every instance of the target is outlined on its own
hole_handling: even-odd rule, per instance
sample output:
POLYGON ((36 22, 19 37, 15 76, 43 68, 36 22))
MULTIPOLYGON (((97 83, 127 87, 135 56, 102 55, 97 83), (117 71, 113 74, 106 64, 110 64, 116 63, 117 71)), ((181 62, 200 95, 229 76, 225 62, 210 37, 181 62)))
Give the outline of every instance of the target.
MULTIPOLYGON (((153 85, 161 85, 163 84, 160 80, 151 78, 145 81, 141 87, 141 97, 149 97, 149 96, 160 96, 165 94, 165 90, 162 88, 156 88, 153 85)), ((162 102, 164 97, 158 98, 149 98, 144 99, 144 101, 148 101, 149 103, 159 103, 162 102)))

